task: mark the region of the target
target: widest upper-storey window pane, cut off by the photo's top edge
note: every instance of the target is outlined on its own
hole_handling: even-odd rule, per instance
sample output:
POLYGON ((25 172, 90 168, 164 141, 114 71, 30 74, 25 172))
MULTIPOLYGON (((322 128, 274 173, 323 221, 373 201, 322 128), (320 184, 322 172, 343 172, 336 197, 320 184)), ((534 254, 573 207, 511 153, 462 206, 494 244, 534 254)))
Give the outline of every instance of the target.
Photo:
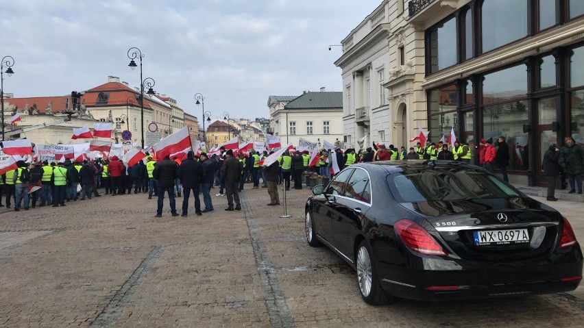
POLYGON ((528 2, 528 0, 483 1, 480 7, 483 53, 527 36, 528 2))

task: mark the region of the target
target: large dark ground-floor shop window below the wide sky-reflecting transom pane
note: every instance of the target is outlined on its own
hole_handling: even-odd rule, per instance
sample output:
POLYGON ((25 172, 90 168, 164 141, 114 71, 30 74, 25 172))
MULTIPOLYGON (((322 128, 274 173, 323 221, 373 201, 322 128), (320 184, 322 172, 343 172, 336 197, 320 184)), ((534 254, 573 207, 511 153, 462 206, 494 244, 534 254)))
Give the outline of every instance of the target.
POLYGON ((528 103, 525 100, 500 103, 483 108, 483 138, 493 139, 493 144, 500 136, 505 137, 509 146, 510 170, 526 170, 528 153, 528 134, 523 132, 527 122, 528 103))

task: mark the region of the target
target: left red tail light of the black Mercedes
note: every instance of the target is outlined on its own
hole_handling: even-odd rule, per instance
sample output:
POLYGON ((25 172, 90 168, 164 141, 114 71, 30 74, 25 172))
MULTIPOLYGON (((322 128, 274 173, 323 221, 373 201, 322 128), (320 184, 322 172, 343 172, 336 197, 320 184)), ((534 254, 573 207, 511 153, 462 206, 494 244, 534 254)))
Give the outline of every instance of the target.
POLYGON ((393 225, 393 229, 406 247, 412 251, 428 255, 448 255, 426 229, 411 220, 399 220, 393 225))

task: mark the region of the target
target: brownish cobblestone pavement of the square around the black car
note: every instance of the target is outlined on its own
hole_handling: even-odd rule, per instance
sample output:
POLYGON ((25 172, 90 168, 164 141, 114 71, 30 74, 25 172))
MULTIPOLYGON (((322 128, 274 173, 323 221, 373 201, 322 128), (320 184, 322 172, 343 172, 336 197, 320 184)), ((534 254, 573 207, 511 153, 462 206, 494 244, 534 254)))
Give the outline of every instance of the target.
MULTIPOLYGON (((280 218, 283 206, 266 206, 267 190, 250 186, 242 193, 243 211, 225 212, 226 197, 213 197, 214 212, 187 218, 171 217, 167 201, 163 217, 154 218, 156 200, 145 194, 0 213, 0 327, 584 325, 583 287, 369 306, 345 262, 306 244, 310 190, 290 190, 292 217, 280 218)), ((178 198, 178 208, 181 203, 178 198)), ((584 242, 584 203, 550 205, 584 242)))

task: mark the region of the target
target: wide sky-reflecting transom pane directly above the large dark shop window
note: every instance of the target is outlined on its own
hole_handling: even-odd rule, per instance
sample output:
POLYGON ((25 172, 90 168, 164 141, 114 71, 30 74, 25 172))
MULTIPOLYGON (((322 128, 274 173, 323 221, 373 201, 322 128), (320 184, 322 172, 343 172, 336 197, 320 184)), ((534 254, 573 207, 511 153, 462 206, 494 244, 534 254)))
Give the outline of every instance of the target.
POLYGON ((527 94, 526 66, 519 65, 485 75, 483 104, 525 98, 527 94))

